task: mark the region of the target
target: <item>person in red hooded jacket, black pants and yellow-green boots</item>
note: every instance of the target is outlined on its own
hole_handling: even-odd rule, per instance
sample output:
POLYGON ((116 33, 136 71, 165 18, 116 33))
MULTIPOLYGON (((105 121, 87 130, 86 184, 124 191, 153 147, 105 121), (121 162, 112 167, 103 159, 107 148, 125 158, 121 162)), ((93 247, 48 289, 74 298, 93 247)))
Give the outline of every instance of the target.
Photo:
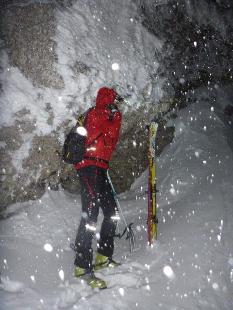
POLYGON ((112 259, 114 236, 119 215, 112 188, 107 178, 107 169, 112 153, 116 148, 121 125, 119 101, 123 100, 109 88, 101 88, 96 99, 96 106, 86 116, 85 156, 75 169, 81 183, 82 218, 75 240, 75 276, 84 277, 94 289, 106 288, 106 283, 95 277, 94 270, 118 263, 112 259), (91 243, 96 230, 99 208, 103 212, 103 222, 98 240, 96 261, 92 263, 91 243), (93 268, 94 267, 94 268, 93 268))

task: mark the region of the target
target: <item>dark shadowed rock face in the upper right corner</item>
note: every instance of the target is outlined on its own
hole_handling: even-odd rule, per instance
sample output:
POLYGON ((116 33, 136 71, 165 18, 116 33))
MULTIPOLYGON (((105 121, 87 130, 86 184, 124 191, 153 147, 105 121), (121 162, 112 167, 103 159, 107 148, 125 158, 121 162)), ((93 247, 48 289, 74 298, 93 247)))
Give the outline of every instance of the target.
POLYGON ((210 96, 216 85, 232 84, 232 1, 136 2, 145 27, 172 53, 162 62, 177 106, 193 101, 200 87, 210 96))

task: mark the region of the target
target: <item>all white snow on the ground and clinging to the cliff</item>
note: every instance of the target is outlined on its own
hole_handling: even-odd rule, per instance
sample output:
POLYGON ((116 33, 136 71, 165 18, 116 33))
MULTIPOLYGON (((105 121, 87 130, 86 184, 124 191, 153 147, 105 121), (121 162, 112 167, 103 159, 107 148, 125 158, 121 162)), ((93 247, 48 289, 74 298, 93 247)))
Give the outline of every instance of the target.
MULTIPOLYGON (((117 5, 114 0, 113 11, 106 1, 90 2, 77 0, 71 8, 56 11, 54 69, 65 81, 63 90, 34 87, 0 50, 0 124, 14 125, 19 119, 34 126, 32 134, 19 128, 24 143, 13 156, 18 172, 33 135, 50 134, 68 119, 75 122, 73 112, 91 107, 100 87, 116 86, 132 106, 145 100, 156 104, 163 96, 165 79, 151 78, 159 66, 154 52, 161 53, 163 43, 142 27, 133 1, 117 5), (76 60, 88 66, 88 74, 75 75, 76 60), (54 114, 50 125, 45 103, 54 114)), ((202 12, 193 10, 195 2, 185 3, 189 18, 195 12, 202 22, 202 12)), ((214 7, 209 11, 204 23, 218 25, 214 7)), ((198 42, 192 44, 198 47, 198 42)), ((119 195, 127 223, 134 222, 133 253, 127 240, 116 239, 114 259, 122 264, 96 272, 108 289, 93 292, 74 278, 74 252, 69 247, 82 216, 81 198, 48 187, 38 201, 8 206, 5 215, 13 215, 0 222, 0 309, 233 309, 233 119, 222 112, 232 104, 232 93, 215 84, 213 89, 200 88, 195 98, 197 103, 167 124, 175 125, 175 139, 156 160, 159 224, 153 246, 147 245, 145 171, 130 191, 119 195)), ((127 106, 122 109, 127 113, 127 106)), ((5 146, 0 141, 0 148, 5 146)), ((100 214, 93 248, 101 220, 100 214)), ((121 219, 119 230, 123 229, 121 219)))

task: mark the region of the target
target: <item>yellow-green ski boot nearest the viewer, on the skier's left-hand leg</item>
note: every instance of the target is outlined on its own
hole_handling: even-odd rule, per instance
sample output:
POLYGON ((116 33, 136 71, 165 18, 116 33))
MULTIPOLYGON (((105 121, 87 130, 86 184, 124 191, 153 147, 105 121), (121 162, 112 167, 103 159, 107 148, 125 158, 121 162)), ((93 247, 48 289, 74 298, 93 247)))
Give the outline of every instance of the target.
POLYGON ((94 272, 91 270, 86 270, 83 268, 80 268, 78 266, 75 266, 75 272, 74 272, 74 276, 80 279, 83 279, 86 281, 86 283, 88 285, 90 285, 91 289, 99 289, 99 290, 103 290, 107 288, 107 285, 105 283, 104 280, 97 278, 94 275, 94 272))

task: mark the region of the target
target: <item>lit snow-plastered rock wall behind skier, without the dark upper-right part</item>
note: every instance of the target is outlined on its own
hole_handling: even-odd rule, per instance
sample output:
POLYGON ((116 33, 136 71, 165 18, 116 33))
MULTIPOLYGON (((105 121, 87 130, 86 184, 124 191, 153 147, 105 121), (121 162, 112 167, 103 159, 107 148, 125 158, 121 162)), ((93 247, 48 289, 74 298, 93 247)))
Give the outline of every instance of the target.
POLYGON ((75 172, 55 151, 102 86, 135 103, 120 108, 123 125, 110 165, 117 191, 129 189, 147 166, 145 127, 156 113, 162 113, 159 150, 172 139, 172 129, 163 129, 175 95, 163 68, 171 54, 163 38, 142 26, 133 1, 4 3, 1 208, 37 199, 48 186, 79 191, 75 172))

